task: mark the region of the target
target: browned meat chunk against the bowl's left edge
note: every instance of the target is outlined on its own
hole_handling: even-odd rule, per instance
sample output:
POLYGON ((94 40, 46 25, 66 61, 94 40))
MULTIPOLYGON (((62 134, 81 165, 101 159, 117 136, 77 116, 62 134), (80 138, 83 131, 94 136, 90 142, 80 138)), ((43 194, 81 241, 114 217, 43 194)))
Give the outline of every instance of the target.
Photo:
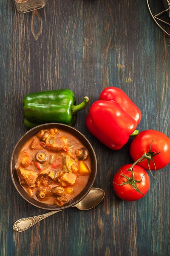
POLYGON ((28 169, 23 169, 23 168, 18 168, 18 173, 21 179, 24 180, 28 186, 33 186, 39 175, 38 172, 28 170, 28 169))

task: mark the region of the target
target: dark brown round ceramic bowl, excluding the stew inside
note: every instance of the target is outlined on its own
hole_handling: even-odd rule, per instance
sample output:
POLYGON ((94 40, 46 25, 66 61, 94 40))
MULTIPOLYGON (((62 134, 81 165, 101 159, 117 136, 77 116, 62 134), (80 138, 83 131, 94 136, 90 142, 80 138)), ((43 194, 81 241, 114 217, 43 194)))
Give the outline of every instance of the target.
POLYGON ((97 173, 97 160, 96 160, 96 154, 94 152, 94 149, 92 148, 91 143, 88 141, 88 139, 79 131, 77 131, 75 128, 68 126, 68 125, 64 125, 64 124, 60 124, 60 123, 48 123, 48 124, 43 124, 43 125, 39 125, 36 126, 34 128, 32 128, 31 130, 27 131, 26 134, 23 135, 23 137, 21 137, 21 139, 18 141, 17 145, 15 145, 14 150, 12 152, 12 156, 11 156, 11 163, 10 163, 10 169, 11 169, 11 178, 12 181, 14 183, 15 188, 17 189, 17 192, 30 204, 34 205, 35 207, 41 208, 41 209, 45 209, 45 210, 63 210, 66 209, 68 207, 72 207, 75 204, 77 204, 79 201, 81 201, 90 191, 90 189, 93 186, 94 180, 96 178, 96 173, 97 173), (20 184, 18 175, 17 175, 17 157, 18 154, 20 152, 20 149, 22 148, 23 144, 26 143, 26 141, 28 139, 30 139, 32 136, 34 136, 35 134, 38 133, 38 131, 42 130, 42 129, 49 129, 49 128, 59 128, 62 129, 64 131, 68 131, 71 134, 73 134, 75 137, 77 137, 84 145, 85 147, 88 149, 89 151, 89 155, 91 157, 91 176, 88 180, 87 185, 85 186, 85 189, 83 189, 83 191, 77 195, 77 197, 75 197, 74 199, 72 199, 71 201, 69 201, 67 204, 65 204, 63 207, 57 207, 55 205, 51 205, 51 204, 43 204, 37 200, 35 200, 34 198, 31 198, 26 191, 23 189, 23 187, 20 184))

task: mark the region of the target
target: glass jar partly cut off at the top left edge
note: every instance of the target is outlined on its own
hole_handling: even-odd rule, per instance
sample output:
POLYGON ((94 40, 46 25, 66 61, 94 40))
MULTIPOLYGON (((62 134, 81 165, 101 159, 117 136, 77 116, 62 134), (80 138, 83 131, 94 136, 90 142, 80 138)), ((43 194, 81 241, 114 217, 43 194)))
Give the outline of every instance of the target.
POLYGON ((14 0, 20 13, 34 11, 45 6, 45 0, 14 0))

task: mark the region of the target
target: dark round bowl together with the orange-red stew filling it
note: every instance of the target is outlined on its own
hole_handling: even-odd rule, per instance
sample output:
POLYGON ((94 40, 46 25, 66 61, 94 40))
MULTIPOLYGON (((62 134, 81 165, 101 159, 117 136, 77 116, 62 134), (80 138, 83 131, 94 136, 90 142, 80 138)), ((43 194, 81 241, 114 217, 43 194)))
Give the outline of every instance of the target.
POLYGON ((15 145, 11 179, 17 192, 35 207, 72 207, 90 191, 96 178, 96 154, 75 128, 48 123, 32 128, 15 145))

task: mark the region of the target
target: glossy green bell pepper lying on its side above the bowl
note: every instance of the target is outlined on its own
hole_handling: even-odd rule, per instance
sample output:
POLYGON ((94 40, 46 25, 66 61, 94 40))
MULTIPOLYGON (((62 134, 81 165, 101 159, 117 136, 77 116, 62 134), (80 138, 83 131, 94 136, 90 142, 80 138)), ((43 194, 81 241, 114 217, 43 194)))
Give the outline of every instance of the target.
POLYGON ((74 93, 68 89, 30 93, 23 98, 24 124, 29 129, 48 122, 73 126, 77 112, 85 108, 88 102, 86 96, 76 106, 74 93))

